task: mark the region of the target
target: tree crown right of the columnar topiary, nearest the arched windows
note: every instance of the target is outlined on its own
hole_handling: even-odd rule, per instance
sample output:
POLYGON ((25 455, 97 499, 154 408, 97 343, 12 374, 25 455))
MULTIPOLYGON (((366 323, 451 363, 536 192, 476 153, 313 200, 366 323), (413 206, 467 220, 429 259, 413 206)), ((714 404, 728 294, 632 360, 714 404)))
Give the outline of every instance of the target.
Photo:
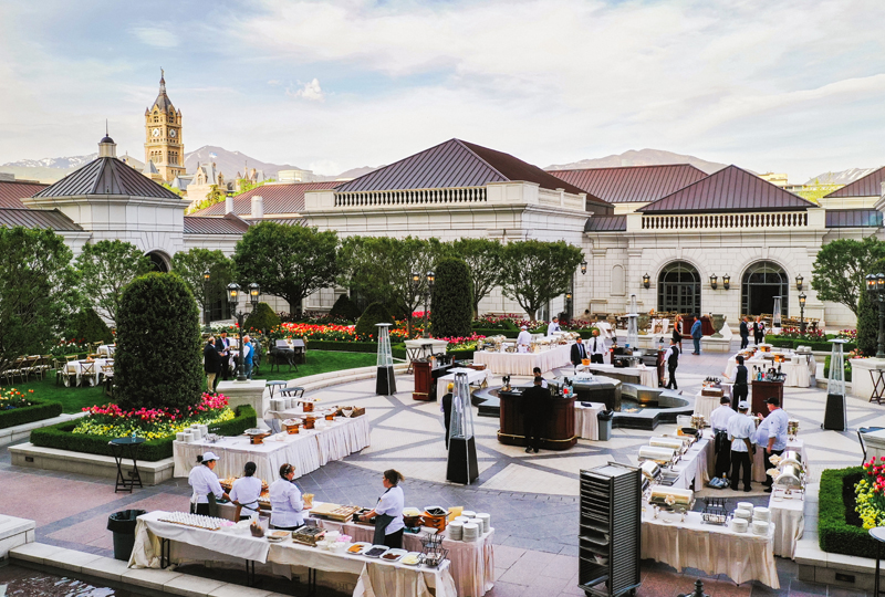
POLYGON ((535 321, 538 310, 571 290, 583 253, 565 241, 517 241, 504 245, 501 290, 535 321))

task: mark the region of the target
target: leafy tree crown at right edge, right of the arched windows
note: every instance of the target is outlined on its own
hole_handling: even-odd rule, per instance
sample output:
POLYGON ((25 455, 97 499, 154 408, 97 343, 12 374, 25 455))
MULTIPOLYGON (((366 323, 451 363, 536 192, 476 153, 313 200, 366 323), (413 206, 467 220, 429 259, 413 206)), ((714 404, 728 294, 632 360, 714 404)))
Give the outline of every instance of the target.
POLYGON ((841 303, 855 315, 864 276, 877 259, 885 258, 885 242, 875 237, 862 241, 837 239, 821 247, 812 269, 811 287, 818 298, 841 303))

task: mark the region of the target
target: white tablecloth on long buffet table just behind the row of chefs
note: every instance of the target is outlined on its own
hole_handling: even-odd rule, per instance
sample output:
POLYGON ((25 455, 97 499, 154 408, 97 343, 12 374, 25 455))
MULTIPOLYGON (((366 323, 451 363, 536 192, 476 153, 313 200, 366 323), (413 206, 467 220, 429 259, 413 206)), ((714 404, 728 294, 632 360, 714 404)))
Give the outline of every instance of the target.
MULTIPOLYGON (((319 421, 317 421, 319 422, 319 421)), ((330 421, 326 421, 330 423, 330 421)), ((187 476, 197 463, 197 454, 211 450, 220 458, 215 472, 219 478, 241 476, 243 465, 250 460, 258 465, 256 475, 268 482, 280 474, 280 467, 295 467, 295 476, 315 471, 330 460, 341 460, 371 443, 366 416, 346 419, 339 417, 334 423, 321 430, 301 429, 298 434, 278 433, 264 439, 264 443, 252 446, 244 436, 221 438, 216 443, 205 441, 173 442, 175 476, 187 476), (275 438, 282 438, 277 441, 275 438)))

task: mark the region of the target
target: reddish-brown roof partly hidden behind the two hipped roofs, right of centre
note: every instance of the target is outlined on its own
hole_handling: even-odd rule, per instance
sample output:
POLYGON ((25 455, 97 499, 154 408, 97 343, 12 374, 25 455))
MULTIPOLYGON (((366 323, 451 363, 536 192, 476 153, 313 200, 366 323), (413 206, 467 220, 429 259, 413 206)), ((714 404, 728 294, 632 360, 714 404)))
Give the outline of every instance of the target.
POLYGON ((656 201, 707 177, 690 164, 548 171, 610 203, 656 201))

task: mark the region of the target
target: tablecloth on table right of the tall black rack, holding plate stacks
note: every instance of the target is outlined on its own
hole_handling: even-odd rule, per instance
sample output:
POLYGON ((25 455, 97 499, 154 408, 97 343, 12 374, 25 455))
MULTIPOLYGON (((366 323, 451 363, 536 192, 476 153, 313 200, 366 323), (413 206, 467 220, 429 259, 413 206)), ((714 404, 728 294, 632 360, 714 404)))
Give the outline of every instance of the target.
POLYGON ((663 562, 679 572, 698 568, 710 575, 725 574, 737 584, 759 580, 780 588, 773 534, 733 533, 727 526, 704 524, 700 512, 689 512, 684 523, 671 513, 655 520, 650 510, 646 506, 643 514, 643 559, 663 562), (676 522, 667 524, 665 519, 676 522))

